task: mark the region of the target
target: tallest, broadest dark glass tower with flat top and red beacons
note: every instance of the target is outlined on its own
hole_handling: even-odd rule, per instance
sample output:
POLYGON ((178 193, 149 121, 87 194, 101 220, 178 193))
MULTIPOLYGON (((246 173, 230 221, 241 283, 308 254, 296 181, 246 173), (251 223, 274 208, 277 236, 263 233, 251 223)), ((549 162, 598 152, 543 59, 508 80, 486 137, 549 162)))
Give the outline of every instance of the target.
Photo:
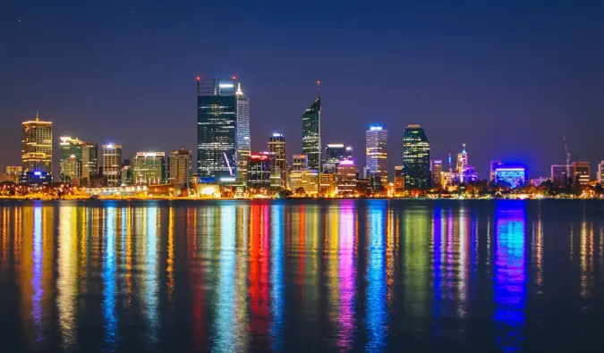
POLYGON ((239 102, 235 87, 235 80, 197 79, 198 178, 236 181, 235 141, 239 102))

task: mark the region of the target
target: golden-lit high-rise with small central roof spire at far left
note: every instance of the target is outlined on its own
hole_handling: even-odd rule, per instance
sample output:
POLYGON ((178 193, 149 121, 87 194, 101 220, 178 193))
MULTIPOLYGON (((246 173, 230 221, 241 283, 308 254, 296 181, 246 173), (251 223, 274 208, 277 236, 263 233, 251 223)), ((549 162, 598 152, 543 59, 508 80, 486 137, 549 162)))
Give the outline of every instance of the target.
POLYGON ((36 120, 21 123, 23 172, 53 172, 53 123, 36 120))

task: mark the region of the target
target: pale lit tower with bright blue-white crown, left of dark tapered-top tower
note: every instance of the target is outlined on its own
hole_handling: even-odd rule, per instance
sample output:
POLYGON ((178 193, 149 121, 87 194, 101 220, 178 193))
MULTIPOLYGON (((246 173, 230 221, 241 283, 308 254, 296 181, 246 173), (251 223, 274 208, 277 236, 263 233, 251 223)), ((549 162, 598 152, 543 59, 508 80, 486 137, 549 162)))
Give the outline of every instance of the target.
POLYGON ((382 185, 388 183, 388 131, 381 126, 371 126, 365 131, 365 164, 370 176, 379 179, 382 185))

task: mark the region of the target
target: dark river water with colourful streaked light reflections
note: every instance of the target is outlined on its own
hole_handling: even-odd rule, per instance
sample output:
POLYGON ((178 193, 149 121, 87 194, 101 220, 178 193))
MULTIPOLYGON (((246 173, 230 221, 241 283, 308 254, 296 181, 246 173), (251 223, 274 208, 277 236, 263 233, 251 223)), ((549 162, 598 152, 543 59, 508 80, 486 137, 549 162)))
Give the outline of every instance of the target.
POLYGON ((599 201, 0 201, 3 352, 602 351, 599 201))

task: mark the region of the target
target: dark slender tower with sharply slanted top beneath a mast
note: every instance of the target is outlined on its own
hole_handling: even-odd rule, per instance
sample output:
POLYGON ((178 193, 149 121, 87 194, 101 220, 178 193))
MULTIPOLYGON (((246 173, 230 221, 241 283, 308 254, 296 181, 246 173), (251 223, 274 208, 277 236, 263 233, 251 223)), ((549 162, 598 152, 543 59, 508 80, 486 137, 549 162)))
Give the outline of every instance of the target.
POLYGON ((321 168, 321 98, 302 113, 302 153, 308 156, 309 168, 321 168))

